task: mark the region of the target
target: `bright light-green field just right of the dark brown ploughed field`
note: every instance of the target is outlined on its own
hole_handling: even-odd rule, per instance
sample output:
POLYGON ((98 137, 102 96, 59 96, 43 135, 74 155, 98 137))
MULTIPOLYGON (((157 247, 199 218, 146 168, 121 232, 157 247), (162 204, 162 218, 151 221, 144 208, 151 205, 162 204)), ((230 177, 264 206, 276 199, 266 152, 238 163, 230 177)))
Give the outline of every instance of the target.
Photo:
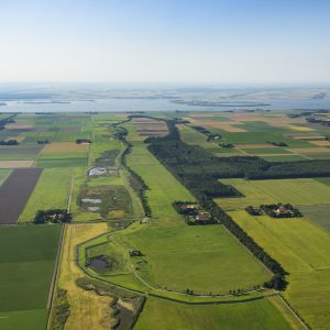
POLYGON ((33 221, 37 210, 66 209, 73 173, 73 168, 45 168, 19 221, 33 221))

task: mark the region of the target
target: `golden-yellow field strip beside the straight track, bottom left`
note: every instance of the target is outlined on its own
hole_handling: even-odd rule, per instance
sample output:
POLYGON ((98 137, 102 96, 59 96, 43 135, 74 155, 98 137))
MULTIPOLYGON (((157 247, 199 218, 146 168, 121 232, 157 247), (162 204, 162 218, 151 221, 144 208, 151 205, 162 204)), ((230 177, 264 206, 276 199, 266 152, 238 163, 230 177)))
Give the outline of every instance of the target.
POLYGON ((111 298, 79 288, 75 280, 85 276, 76 265, 76 246, 107 231, 106 223, 66 226, 57 286, 68 292, 70 315, 65 330, 109 330, 114 319, 111 298))

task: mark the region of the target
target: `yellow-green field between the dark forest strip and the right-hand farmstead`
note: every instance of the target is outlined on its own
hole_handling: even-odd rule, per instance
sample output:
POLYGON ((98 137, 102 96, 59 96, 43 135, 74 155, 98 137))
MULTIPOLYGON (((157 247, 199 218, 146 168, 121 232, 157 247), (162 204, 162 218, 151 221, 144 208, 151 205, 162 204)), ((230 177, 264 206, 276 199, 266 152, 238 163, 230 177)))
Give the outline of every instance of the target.
POLYGON ((330 187, 315 179, 272 179, 245 180, 223 179, 221 183, 234 186, 245 197, 219 198, 217 201, 224 209, 244 209, 252 205, 283 202, 297 206, 329 204, 330 187))

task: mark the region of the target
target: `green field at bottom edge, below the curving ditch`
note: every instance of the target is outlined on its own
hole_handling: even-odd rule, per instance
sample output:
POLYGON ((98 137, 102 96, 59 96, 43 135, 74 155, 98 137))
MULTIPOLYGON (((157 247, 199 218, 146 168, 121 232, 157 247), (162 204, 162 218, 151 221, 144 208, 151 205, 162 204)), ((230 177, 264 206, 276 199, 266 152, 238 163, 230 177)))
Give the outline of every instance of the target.
POLYGON ((267 299, 234 305, 189 306, 147 298, 136 330, 292 329, 267 299), (249 324, 249 326, 248 326, 249 324))

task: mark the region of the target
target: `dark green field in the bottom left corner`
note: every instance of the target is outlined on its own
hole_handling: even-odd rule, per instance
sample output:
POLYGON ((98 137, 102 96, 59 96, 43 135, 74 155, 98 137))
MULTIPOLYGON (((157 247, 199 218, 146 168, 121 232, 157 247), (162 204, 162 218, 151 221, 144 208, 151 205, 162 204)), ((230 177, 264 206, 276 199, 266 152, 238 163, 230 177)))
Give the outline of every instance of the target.
POLYGON ((0 329, 44 330, 61 226, 0 228, 0 329))

